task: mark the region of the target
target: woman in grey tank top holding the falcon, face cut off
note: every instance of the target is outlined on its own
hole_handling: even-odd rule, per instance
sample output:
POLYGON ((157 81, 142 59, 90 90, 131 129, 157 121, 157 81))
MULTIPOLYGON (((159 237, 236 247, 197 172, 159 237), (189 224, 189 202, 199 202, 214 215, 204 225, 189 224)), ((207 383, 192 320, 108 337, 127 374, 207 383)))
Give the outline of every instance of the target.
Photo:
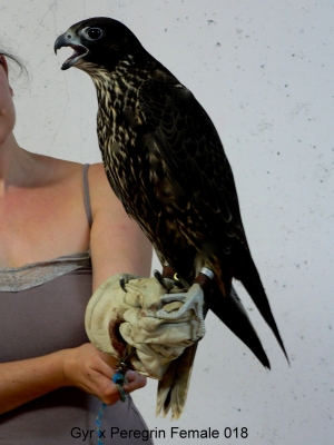
MULTIPOLYGON (((102 400, 111 405, 100 427, 107 444, 111 427, 147 427, 130 397, 119 402, 116 360, 88 343, 85 308, 111 275, 147 276, 151 248, 101 165, 87 169, 17 144, 12 95, 1 53, 0 443, 73 444, 86 435, 96 444, 102 400)), ((146 384, 134 372, 127 378, 127 393, 146 384)))

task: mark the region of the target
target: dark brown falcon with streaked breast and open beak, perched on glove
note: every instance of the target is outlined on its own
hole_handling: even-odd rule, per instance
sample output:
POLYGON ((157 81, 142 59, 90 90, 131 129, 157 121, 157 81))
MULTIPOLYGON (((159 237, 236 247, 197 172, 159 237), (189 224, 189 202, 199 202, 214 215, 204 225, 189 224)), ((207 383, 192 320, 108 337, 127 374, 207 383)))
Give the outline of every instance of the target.
POLYGON ((117 20, 80 21, 57 39, 55 51, 61 47, 73 49, 61 69, 86 71, 96 87, 109 182, 165 270, 175 270, 188 289, 184 306, 205 294, 206 309, 269 368, 233 287, 233 279, 240 280, 287 358, 250 255, 233 172, 206 111, 117 20))

